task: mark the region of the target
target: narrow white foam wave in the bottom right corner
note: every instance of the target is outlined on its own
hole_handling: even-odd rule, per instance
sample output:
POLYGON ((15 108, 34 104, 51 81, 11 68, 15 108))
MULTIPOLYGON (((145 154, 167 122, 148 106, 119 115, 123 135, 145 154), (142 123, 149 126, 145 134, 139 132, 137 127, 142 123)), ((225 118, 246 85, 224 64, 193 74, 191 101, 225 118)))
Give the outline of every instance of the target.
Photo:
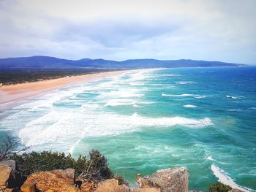
POLYGON ((231 188, 237 188, 237 189, 240 189, 241 191, 246 191, 246 192, 255 191, 250 188, 242 187, 236 184, 234 180, 231 177, 229 177, 223 169, 220 169, 218 166, 214 164, 211 165, 211 170, 212 172, 214 172, 214 175, 219 179, 219 182, 225 185, 230 185, 231 188))

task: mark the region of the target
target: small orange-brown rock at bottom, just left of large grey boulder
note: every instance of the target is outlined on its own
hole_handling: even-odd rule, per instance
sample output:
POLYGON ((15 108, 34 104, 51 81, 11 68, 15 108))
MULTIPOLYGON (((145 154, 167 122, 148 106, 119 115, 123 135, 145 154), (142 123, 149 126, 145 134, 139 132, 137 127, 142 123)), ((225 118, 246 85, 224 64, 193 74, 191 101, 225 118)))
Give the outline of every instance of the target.
POLYGON ((99 183, 95 192, 129 192, 126 185, 118 185, 118 180, 111 179, 99 183))

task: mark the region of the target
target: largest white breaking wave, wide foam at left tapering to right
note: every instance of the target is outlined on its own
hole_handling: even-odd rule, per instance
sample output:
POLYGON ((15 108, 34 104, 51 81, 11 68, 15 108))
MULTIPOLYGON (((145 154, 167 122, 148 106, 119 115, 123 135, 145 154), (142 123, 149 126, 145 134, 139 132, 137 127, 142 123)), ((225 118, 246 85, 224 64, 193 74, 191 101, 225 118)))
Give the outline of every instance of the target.
POLYGON ((203 128, 213 123, 209 118, 149 118, 134 113, 118 115, 91 110, 53 110, 19 131, 21 142, 32 150, 63 150, 68 152, 82 137, 108 137, 126 134, 145 127, 184 126, 203 128))

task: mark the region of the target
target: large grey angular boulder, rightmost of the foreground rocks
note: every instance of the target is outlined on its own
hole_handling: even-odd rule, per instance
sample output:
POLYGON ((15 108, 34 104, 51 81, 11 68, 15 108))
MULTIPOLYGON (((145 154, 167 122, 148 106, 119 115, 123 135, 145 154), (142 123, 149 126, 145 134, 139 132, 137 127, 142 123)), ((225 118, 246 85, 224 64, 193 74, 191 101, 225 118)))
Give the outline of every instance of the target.
POLYGON ((161 188, 163 192, 186 192, 189 185, 187 167, 161 169, 143 178, 148 187, 161 188))

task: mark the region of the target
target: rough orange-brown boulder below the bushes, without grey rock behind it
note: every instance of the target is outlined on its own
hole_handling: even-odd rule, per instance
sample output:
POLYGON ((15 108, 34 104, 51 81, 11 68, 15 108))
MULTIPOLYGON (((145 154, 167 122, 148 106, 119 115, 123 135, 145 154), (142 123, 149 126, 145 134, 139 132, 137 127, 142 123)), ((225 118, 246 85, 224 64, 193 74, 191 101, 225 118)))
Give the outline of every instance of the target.
POLYGON ((53 172, 34 172, 30 174, 23 185, 34 183, 36 190, 46 192, 75 192, 75 186, 70 184, 70 180, 63 178, 63 174, 54 174, 53 172))

